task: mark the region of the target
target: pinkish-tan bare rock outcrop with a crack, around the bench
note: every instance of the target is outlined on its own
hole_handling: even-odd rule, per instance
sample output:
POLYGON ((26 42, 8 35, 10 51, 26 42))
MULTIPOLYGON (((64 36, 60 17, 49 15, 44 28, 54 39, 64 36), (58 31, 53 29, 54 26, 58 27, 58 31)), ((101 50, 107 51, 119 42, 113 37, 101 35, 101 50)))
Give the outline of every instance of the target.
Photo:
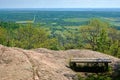
POLYGON ((90 50, 53 51, 44 48, 23 50, 0 45, 0 80, 73 80, 68 67, 71 57, 118 58, 90 50))

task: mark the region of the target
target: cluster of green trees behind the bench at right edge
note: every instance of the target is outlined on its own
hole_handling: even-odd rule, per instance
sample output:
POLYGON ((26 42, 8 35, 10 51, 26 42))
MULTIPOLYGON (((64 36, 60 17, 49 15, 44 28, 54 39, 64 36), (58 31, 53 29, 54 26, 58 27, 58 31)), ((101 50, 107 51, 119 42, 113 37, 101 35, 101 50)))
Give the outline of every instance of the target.
POLYGON ((85 48, 120 56, 120 31, 108 23, 93 19, 80 29, 85 48))

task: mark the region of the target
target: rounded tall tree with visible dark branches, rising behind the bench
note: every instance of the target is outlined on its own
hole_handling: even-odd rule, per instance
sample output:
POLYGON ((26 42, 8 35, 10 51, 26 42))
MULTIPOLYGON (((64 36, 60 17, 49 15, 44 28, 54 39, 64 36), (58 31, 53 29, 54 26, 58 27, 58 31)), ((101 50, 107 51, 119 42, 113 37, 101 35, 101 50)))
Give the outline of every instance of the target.
MULTIPOLYGON (((102 50, 103 42, 107 42, 107 28, 108 24, 98 19, 90 20, 87 26, 80 28, 80 33, 83 41, 90 44, 92 50, 102 50)), ((103 50, 102 50, 103 51, 103 50)))

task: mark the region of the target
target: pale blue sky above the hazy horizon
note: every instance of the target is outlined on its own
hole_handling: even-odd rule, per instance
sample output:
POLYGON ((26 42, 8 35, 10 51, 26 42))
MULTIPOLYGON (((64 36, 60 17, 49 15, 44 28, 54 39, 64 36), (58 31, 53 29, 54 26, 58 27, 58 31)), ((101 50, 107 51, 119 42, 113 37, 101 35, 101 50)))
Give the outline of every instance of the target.
POLYGON ((120 0, 0 0, 0 8, 120 8, 120 0))

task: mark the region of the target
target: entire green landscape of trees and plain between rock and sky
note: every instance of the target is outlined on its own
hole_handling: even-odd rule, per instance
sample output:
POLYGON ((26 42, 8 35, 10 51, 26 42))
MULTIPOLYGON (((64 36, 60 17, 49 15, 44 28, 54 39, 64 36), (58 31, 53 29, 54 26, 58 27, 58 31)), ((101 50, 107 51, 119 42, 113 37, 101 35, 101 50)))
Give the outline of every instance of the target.
POLYGON ((91 49, 120 58, 120 12, 0 10, 0 44, 24 49, 91 49), (29 23, 34 19, 34 23, 29 23), (28 21, 25 24, 17 21, 28 21))

